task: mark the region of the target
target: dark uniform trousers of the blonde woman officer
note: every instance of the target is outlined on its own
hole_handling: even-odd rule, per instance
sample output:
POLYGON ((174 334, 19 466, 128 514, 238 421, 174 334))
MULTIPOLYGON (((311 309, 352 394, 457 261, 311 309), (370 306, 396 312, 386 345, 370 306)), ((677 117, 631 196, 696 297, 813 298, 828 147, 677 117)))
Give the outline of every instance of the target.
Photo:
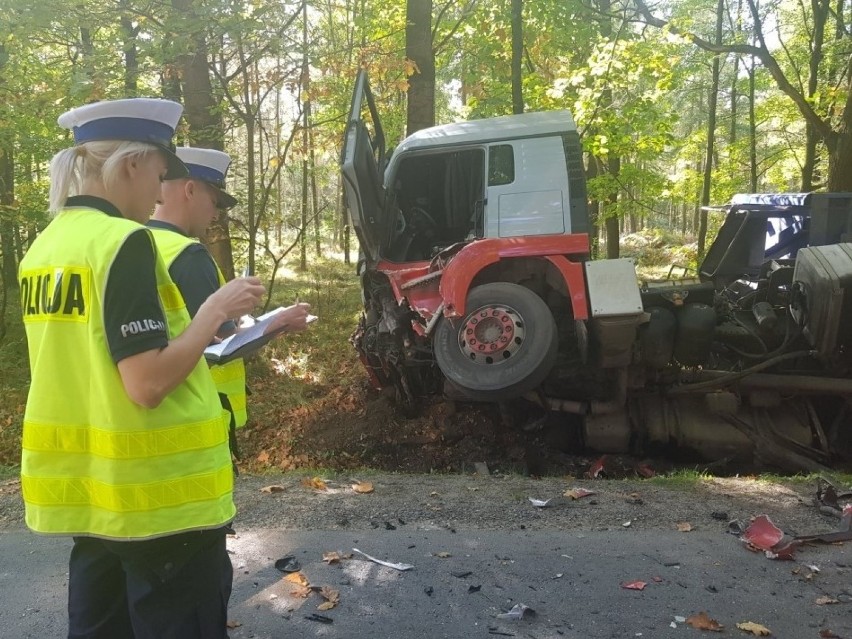
POLYGON ((145 541, 75 537, 68 639, 226 639, 228 532, 145 541))

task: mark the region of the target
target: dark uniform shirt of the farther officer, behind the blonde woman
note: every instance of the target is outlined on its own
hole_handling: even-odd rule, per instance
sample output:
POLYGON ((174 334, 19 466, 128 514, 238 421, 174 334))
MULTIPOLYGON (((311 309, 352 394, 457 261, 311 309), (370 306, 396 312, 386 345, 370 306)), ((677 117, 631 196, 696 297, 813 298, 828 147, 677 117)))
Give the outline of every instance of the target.
MULTIPOLYGON (((162 220, 149 220, 148 226, 154 229, 166 229, 186 236, 186 233, 179 227, 162 220)), ((216 270, 216 263, 207 247, 201 242, 193 242, 181 251, 169 267, 169 275, 180 289, 190 317, 195 317, 204 300, 219 289, 219 274, 216 270)), ((225 322, 219 328, 219 335, 230 335, 236 329, 236 324, 233 321, 225 322)))

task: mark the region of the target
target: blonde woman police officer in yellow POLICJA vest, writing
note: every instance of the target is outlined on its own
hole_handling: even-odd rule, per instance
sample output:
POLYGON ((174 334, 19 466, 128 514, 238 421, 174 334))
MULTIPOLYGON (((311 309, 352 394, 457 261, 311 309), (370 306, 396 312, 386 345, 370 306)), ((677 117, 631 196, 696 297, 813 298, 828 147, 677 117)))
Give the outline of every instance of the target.
POLYGON ((257 278, 190 320, 145 228, 161 182, 186 175, 182 107, 129 99, 59 118, 55 219, 20 266, 32 371, 21 487, 34 531, 71 535, 68 637, 227 637, 235 514, 227 414, 202 358, 257 278))

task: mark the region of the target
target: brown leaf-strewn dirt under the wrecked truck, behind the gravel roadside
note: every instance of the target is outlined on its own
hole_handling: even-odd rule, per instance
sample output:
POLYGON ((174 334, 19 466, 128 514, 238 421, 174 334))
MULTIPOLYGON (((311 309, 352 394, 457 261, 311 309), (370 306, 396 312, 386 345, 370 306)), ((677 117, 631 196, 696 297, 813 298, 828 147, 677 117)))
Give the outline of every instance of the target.
MULTIPOLYGON (((252 412, 240 432, 242 466, 252 472, 370 468, 406 473, 492 472, 528 476, 589 474, 602 456, 583 451, 570 416, 545 413, 520 400, 505 406, 435 399, 413 419, 392 398, 366 384, 330 387, 310 405, 274 413, 252 412)), ((611 479, 642 478, 675 468, 703 470, 688 458, 606 455, 598 473, 611 479)), ((596 469, 596 468, 595 468, 596 469)), ((729 474, 743 468, 713 469, 729 474)))

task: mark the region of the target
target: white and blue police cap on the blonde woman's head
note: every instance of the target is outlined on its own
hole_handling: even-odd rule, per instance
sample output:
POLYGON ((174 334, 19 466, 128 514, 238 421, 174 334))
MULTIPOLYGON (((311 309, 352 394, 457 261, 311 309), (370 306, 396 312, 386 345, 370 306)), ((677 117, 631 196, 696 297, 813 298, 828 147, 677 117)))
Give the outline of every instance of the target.
POLYGON ((126 98, 84 104, 66 111, 59 126, 74 132, 74 143, 97 140, 145 142, 163 151, 168 162, 167 179, 185 177, 186 167, 175 155, 175 134, 183 106, 157 98, 126 98))

